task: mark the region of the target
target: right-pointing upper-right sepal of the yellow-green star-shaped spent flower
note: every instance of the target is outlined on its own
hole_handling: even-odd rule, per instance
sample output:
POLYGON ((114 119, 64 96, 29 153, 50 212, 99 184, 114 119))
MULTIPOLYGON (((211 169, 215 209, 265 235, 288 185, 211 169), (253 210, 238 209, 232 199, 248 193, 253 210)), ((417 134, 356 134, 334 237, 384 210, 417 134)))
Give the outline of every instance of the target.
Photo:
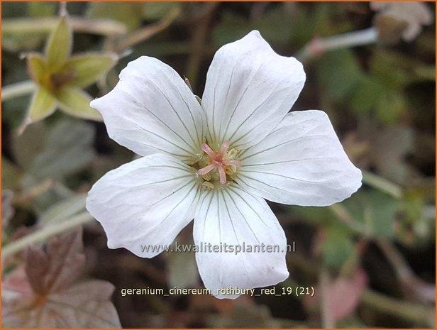
POLYGON ((114 67, 117 61, 118 56, 113 53, 87 53, 72 56, 64 67, 64 70, 74 72, 74 78, 68 84, 87 87, 114 67))

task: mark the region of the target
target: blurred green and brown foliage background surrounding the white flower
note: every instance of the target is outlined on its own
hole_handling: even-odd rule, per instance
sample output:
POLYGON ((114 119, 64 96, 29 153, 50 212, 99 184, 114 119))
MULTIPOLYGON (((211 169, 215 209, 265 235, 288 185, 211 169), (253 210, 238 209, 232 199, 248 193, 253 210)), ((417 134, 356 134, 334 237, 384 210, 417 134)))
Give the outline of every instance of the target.
MULTIPOLYGON (((363 187, 331 207, 271 204, 296 246, 287 255, 291 275, 276 289, 314 287, 314 297, 236 300, 121 295, 123 288, 202 285, 191 253, 149 260, 106 248, 104 231, 85 213, 84 199, 99 177, 134 155, 109 139, 103 123, 56 111, 22 129, 33 90, 23 56, 42 52, 59 6, 2 4, 4 279, 28 262, 23 248, 29 243, 84 224, 82 276, 115 286, 112 301, 123 327, 435 326, 433 3, 420 10, 371 8, 367 2, 67 4, 73 54, 120 56, 106 77, 87 87, 92 97, 109 92, 123 67, 141 55, 166 62, 201 95, 215 51, 253 29, 277 53, 304 62, 306 84, 293 109, 326 111, 350 159, 363 170, 363 187), (403 34, 409 28, 416 29, 413 38, 403 34), (360 31, 377 34, 363 40, 360 31), (349 44, 338 46, 343 33, 353 34, 349 44)), ((192 243, 192 227, 177 241, 192 243)))

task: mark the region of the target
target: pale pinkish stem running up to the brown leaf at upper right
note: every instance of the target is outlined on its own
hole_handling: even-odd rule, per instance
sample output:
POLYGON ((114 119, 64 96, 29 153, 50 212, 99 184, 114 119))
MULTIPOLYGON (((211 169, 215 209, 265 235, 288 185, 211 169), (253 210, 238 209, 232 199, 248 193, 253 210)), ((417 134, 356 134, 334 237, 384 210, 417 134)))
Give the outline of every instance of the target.
POLYGON ((327 38, 314 38, 304 45, 302 50, 297 52, 297 59, 300 61, 310 60, 312 57, 319 56, 327 50, 350 48, 361 45, 376 43, 378 40, 377 29, 367 28, 365 30, 353 31, 327 38))

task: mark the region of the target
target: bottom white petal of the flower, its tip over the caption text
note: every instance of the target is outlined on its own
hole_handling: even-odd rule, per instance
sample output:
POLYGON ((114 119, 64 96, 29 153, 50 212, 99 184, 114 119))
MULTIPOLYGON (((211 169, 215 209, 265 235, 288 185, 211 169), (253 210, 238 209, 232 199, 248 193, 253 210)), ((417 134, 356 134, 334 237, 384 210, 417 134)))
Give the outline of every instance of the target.
POLYGON ((265 287, 288 277, 285 253, 287 240, 275 214, 264 199, 239 187, 228 186, 219 191, 204 191, 194 216, 194 243, 211 244, 196 253, 199 273, 206 288, 219 298, 236 298, 217 290, 237 287, 240 290, 265 287), (226 252, 233 246, 234 252, 226 252), (235 253, 236 246, 245 252, 235 253), (248 252, 262 244, 277 247, 275 252, 248 252), (214 252, 221 246, 221 252, 214 252))

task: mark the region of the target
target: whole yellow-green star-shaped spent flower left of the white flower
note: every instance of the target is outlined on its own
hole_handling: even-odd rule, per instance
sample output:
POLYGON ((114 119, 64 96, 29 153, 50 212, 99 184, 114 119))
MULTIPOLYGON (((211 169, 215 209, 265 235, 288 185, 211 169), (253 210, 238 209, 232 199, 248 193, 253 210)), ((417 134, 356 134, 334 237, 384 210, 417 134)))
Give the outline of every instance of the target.
POLYGON ((28 72, 36 83, 24 126, 50 116, 57 108, 82 119, 101 121, 89 106, 92 97, 83 90, 118 61, 114 53, 72 53, 72 28, 68 16, 60 17, 50 33, 44 55, 30 53, 28 72))

